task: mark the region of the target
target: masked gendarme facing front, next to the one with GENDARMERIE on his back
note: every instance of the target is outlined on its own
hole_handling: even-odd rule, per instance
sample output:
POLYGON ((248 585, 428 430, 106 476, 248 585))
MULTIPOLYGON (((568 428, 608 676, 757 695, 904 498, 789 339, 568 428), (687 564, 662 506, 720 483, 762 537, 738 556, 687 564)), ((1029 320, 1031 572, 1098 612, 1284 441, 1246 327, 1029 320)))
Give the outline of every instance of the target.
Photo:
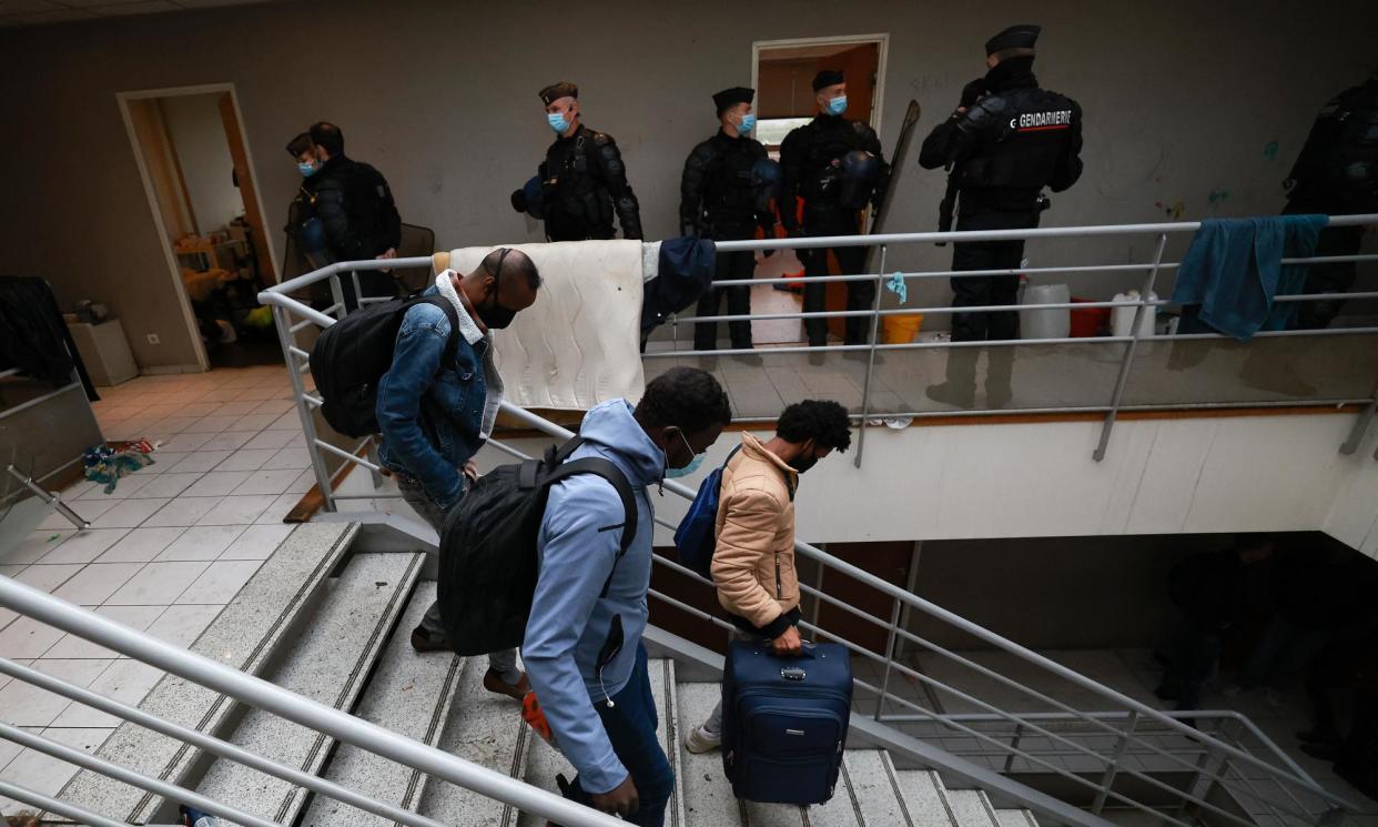
MULTIPOLYGON (((813 79, 819 114, 791 131, 780 145, 784 183, 780 196, 780 221, 791 236, 801 227, 795 218, 795 196, 803 198, 805 236, 856 236, 861 232, 861 208, 879 205, 890 181, 890 168, 881 152, 881 139, 870 124, 843 117, 847 109, 846 81, 841 72, 823 70, 813 79), (843 164, 843 160, 847 163, 843 164)), ((852 276, 865 267, 865 247, 836 247, 841 274, 852 276)), ((803 312, 825 310, 827 284, 810 280, 828 274, 828 248, 802 249, 803 312)), ((847 310, 870 310, 875 300, 872 281, 847 283, 847 310)), ((808 318, 803 323, 809 345, 828 343, 828 321, 808 318)), ((865 345, 871 320, 849 317, 846 343, 865 345)))

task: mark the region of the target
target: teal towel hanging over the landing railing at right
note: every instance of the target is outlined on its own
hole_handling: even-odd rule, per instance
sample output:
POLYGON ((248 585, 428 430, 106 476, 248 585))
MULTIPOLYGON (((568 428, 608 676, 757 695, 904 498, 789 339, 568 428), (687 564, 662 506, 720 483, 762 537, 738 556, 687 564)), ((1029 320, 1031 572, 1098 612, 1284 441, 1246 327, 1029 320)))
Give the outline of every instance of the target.
MULTIPOLYGON (((1309 265, 1283 265, 1316 249, 1324 215, 1206 219, 1177 272, 1174 305, 1200 305, 1196 316, 1240 342, 1258 331, 1287 327, 1294 302, 1273 306, 1273 296, 1295 295, 1309 265)), ((1188 307, 1192 310, 1192 307, 1188 307)))

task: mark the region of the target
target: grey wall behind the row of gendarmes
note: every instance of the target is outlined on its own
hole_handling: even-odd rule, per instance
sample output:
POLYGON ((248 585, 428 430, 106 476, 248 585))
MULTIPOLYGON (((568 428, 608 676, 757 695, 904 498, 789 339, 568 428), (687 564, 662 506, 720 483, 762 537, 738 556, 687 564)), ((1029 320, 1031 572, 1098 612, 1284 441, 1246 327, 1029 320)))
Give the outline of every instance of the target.
MULTIPOLYGON (((0 198, 0 270, 41 273, 63 300, 99 281, 141 364, 196 361, 120 91, 234 83, 270 226, 296 187, 282 146, 310 121, 333 120, 349 153, 389 176, 405 221, 434 227, 449 248, 539 238, 507 193, 551 138, 536 90, 570 79, 584 90, 587 121, 621 145, 646 232, 660 237, 677 229, 683 157, 714 130, 708 95, 750 80, 754 40, 887 32, 881 132, 890 146, 908 98, 925 105, 922 136, 984 70, 981 43, 1034 17, 1045 26, 1040 76, 1086 110, 1086 176, 1045 216, 1076 225, 1160 219, 1155 204, 1178 200, 1188 219, 1277 211, 1279 182, 1315 112, 1367 73, 1378 40, 1366 0, 1028 8, 303 0, 7 32, 0 164, 11 196, 0 198), (146 345, 153 331, 161 346, 146 345)), ((932 227, 941 189, 940 175, 905 170, 893 227, 932 227)), ((1149 240, 1115 240, 1029 255, 1051 263, 1148 252, 1149 240)), ((948 256, 929 247, 892 263, 937 269, 948 256)), ((925 302, 947 298, 940 284, 918 291, 925 302)))

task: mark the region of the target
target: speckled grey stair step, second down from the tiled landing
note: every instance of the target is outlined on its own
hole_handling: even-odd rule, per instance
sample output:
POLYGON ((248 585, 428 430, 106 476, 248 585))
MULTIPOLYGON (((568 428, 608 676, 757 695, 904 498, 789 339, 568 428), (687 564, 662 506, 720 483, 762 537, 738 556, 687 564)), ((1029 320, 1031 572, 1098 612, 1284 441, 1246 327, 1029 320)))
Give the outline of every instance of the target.
MULTIPOLYGON (((423 562, 423 554, 354 555, 269 680, 311 700, 351 710, 407 606, 423 562)), ((245 713, 227 740, 307 773, 318 773, 335 746, 325 733, 262 710, 245 713)), ((211 764, 197 791, 281 824, 292 824, 307 801, 305 790, 226 759, 211 764)), ((358 812, 351 810, 354 815, 358 812)))

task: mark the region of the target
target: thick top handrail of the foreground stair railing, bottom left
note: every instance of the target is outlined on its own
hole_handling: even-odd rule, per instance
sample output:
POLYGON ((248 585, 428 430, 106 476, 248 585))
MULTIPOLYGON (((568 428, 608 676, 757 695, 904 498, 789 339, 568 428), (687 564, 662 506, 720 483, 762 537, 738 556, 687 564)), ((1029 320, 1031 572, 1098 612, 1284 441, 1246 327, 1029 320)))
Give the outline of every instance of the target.
MULTIPOLYGON (((612 816, 178 648, 11 578, 0 576, 0 606, 524 812, 572 827, 621 824, 612 816)), ((33 737, 23 731, 18 735, 0 732, 6 737, 14 736, 14 740, 19 736, 33 737)), ((80 757, 92 758, 85 753, 80 753, 80 757)), ((70 758, 79 762, 77 755, 70 758)), ((225 805, 218 806, 225 809, 225 805)), ((212 808, 205 809, 214 812, 212 808)), ((230 817, 243 820, 240 816, 230 817)))

